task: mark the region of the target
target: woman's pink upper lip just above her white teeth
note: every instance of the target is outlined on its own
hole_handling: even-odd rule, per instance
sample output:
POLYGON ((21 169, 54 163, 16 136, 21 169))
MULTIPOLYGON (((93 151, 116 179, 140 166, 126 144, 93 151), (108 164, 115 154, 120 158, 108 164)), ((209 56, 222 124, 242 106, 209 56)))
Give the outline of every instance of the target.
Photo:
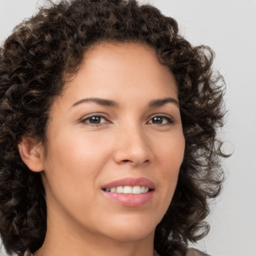
POLYGON ((154 182, 148 178, 139 177, 126 177, 111 181, 102 186, 102 188, 111 188, 117 186, 146 186, 150 189, 154 189, 154 182))

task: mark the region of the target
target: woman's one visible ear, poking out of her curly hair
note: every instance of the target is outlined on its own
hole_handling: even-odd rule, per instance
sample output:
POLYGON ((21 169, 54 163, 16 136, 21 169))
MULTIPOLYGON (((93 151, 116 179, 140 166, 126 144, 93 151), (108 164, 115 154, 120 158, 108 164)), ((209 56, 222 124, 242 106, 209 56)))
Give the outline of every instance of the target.
POLYGON ((22 136, 18 143, 18 151, 21 159, 30 170, 36 172, 43 170, 43 150, 41 143, 38 143, 32 138, 22 136))

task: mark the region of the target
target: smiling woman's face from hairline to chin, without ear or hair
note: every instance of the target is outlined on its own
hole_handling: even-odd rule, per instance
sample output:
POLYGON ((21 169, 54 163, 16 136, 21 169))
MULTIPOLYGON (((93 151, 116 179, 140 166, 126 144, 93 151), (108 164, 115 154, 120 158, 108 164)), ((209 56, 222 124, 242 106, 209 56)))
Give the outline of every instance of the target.
POLYGON ((46 137, 47 228, 153 236, 184 152, 177 85, 154 49, 101 43, 86 52, 52 105, 46 137))

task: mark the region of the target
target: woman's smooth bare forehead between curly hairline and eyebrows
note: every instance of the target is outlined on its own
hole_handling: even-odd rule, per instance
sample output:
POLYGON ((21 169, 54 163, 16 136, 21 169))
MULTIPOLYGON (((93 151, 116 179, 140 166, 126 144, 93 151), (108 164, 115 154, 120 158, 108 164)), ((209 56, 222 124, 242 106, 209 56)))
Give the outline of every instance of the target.
MULTIPOLYGON (((84 53, 83 61, 65 85, 66 96, 120 97, 120 94, 177 94, 174 75, 159 62, 153 47, 136 42, 103 42, 84 53), (132 91, 132 93, 131 93, 132 91)), ((150 95, 152 97, 152 95, 150 95)), ((74 99, 75 100, 75 99, 74 99)), ((77 98, 76 98, 77 100, 77 98)))

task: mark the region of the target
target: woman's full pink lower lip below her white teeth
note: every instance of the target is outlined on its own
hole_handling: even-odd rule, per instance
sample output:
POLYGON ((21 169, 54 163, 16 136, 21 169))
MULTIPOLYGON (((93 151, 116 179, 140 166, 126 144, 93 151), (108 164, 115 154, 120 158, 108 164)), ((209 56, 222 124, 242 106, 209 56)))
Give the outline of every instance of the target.
POLYGON ((116 193, 116 192, 106 192, 103 193, 112 201, 117 202, 121 205, 136 207, 141 206, 149 201, 151 201, 153 197, 153 190, 148 191, 146 193, 141 194, 124 194, 124 193, 116 193))

